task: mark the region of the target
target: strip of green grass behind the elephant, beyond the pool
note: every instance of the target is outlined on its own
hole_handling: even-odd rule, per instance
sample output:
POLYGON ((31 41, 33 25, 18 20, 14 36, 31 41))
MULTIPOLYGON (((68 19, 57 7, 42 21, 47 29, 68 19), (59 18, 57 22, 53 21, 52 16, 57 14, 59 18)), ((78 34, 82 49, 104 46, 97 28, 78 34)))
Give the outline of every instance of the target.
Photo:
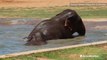
POLYGON ((0 17, 50 18, 64 9, 73 9, 82 18, 107 18, 107 7, 0 8, 0 17))

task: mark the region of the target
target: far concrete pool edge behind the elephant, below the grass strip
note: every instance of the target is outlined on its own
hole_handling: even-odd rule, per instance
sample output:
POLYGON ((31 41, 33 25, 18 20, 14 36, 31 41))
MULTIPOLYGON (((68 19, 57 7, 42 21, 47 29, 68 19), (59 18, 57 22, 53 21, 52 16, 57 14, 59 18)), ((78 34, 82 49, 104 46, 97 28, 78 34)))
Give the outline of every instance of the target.
MULTIPOLYGON (((20 25, 20 24, 30 24, 35 25, 34 22, 41 22, 43 20, 46 20, 49 18, 0 18, 0 24, 1 25, 20 25), (25 19, 25 20, 24 20, 25 19)), ((107 18, 83 18, 84 22, 104 22, 107 21, 107 18)))

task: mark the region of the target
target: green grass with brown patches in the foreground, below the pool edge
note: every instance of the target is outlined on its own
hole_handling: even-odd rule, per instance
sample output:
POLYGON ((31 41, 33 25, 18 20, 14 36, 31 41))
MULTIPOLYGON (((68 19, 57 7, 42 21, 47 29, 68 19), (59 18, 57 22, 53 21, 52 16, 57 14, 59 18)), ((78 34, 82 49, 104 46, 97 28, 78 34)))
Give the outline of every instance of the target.
POLYGON ((47 58, 50 60, 107 60, 107 50, 98 46, 87 46, 5 58, 0 60, 36 60, 36 58, 47 58), (98 57, 80 57, 80 55, 97 55, 98 57))

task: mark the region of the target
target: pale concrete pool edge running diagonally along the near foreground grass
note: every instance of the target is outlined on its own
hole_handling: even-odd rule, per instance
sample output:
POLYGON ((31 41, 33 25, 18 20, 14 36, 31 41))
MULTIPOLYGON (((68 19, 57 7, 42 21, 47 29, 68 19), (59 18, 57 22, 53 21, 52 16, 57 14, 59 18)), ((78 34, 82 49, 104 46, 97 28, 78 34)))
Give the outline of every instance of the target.
POLYGON ((20 55, 28 55, 28 54, 32 54, 32 53, 48 52, 48 51, 55 51, 55 50, 61 50, 61 49, 83 47, 83 46, 99 45, 99 44, 104 44, 104 43, 107 43, 107 41, 99 41, 99 42, 86 43, 86 44, 63 46, 63 47, 58 47, 58 48, 48 48, 48 49, 40 49, 40 50, 32 50, 32 51, 25 51, 25 52, 19 52, 19 53, 5 54, 5 55, 0 55, 0 58, 15 57, 15 56, 20 56, 20 55))

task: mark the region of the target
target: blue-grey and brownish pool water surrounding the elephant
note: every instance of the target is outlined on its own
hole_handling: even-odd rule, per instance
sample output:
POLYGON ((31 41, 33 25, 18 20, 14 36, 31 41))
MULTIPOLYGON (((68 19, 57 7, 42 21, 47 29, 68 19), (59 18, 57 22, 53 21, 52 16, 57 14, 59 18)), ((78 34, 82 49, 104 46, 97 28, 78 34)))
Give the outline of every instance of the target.
POLYGON ((0 55, 107 40, 107 29, 101 28, 103 26, 107 26, 107 22, 84 22, 87 29, 85 37, 50 40, 48 41, 48 44, 42 46, 25 46, 24 44, 26 43, 26 40, 24 40, 23 38, 28 36, 28 34, 32 31, 32 29, 38 22, 34 23, 34 19, 27 18, 4 18, 0 19, 0 23, 1 20, 2 24, 0 24, 0 55), (3 20, 4 22, 14 22, 8 23, 8 25, 6 25, 3 20))

